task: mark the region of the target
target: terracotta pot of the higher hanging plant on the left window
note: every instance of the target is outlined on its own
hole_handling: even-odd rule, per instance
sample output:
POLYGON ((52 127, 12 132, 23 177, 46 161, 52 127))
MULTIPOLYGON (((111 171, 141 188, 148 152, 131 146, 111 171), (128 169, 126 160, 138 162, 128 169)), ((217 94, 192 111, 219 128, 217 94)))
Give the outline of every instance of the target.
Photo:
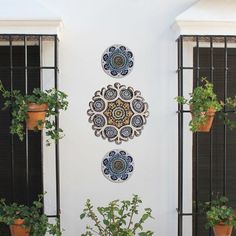
POLYGON ((48 109, 48 104, 36 104, 36 103, 28 104, 27 128, 29 130, 43 129, 47 109, 48 109), (41 121, 42 125, 39 125, 38 121, 41 121))

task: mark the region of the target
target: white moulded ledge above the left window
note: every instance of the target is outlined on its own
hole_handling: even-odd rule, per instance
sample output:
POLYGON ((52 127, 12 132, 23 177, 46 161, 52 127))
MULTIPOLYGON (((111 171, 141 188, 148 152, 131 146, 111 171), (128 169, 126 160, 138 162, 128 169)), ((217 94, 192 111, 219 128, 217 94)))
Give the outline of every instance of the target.
POLYGON ((0 34, 59 35, 61 27, 60 15, 40 1, 1 0, 0 34))

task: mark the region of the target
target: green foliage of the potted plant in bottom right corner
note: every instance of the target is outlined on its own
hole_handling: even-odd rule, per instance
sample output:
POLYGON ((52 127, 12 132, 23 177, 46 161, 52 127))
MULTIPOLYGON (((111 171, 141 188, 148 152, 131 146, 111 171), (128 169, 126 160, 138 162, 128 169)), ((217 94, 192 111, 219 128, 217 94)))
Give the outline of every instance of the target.
POLYGON ((206 214, 206 228, 218 224, 236 226, 236 212, 228 206, 228 198, 217 195, 212 201, 200 205, 202 211, 206 214))

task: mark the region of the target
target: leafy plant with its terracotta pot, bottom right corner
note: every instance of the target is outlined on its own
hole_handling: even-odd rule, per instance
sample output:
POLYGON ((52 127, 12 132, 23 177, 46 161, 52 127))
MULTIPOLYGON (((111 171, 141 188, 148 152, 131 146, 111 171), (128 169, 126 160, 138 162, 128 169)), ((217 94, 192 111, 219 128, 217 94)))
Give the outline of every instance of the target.
POLYGON ((217 195, 216 199, 201 206, 206 213, 206 228, 212 227, 215 236, 230 236, 236 226, 236 212, 227 204, 227 197, 217 195))

